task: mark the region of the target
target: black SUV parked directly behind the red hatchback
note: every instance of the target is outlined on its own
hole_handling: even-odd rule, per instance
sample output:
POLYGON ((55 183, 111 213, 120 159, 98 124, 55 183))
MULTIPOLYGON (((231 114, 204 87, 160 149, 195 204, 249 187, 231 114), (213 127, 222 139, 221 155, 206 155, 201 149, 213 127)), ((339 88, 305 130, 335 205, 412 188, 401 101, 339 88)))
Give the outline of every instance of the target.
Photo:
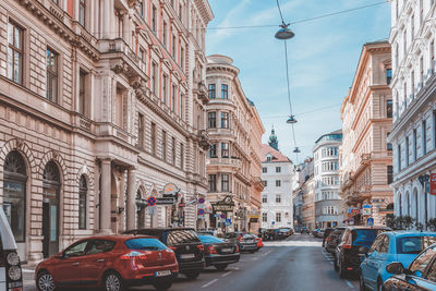
POLYGON ((174 251, 179 263, 179 272, 184 274, 190 279, 197 278, 199 272, 205 268, 204 245, 194 229, 135 229, 125 233, 158 238, 174 251))

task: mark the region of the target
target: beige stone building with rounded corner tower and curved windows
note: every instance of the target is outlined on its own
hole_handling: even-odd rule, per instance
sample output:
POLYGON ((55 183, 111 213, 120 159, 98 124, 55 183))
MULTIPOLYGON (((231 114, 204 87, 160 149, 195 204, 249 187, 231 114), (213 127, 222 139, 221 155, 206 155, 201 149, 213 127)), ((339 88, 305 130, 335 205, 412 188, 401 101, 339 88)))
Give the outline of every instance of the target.
POLYGON ((245 97, 233 60, 218 54, 207 59, 207 201, 214 211, 205 218, 204 227, 257 231, 265 130, 254 104, 245 97), (228 205, 234 205, 226 209, 214 206, 226 197, 231 197, 228 205))

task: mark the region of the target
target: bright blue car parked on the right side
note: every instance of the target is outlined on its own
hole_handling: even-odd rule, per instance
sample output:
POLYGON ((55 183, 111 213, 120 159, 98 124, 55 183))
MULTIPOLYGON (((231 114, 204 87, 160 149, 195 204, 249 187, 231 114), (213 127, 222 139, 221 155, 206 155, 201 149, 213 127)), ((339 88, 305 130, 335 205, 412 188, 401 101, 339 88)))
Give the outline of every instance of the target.
POLYGON ((386 266, 400 262, 410 263, 426 247, 436 243, 436 232, 390 231, 379 234, 371 248, 362 250, 365 259, 361 264, 360 289, 382 290, 383 283, 392 276, 386 266))

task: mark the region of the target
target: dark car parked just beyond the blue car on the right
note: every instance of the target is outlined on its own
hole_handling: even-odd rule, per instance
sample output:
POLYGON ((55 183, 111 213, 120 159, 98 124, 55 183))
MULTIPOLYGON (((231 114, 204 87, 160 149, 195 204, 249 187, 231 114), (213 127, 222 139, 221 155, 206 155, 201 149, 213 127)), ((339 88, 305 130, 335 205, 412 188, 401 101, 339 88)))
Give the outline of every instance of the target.
POLYGON ((348 227, 341 241, 336 247, 334 266, 339 271, 340 278, 346 278, 349 272, 358 272, 362 263, 359 248, 371 247, 375 238, 382 232, 391 230, 386 227, 348 227))

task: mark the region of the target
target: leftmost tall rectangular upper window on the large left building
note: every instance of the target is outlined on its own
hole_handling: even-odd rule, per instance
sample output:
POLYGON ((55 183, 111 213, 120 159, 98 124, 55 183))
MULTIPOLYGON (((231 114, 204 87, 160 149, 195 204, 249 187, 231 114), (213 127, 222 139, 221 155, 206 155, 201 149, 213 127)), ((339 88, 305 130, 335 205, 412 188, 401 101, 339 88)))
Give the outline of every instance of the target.
POLYGON ((15 23, 8 25, 8 77, 23 84, 23 29, 15 23))

